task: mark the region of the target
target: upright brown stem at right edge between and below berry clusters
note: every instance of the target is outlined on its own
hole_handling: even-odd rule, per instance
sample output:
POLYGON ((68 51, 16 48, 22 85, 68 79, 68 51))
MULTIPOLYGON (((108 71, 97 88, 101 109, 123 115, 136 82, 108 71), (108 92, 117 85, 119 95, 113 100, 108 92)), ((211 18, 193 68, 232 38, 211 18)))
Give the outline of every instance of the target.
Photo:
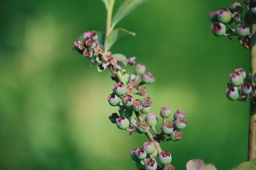
MULTIPOLYGON (((251 74, 256 73, 256 16, 252 18, 252 37, 250 44, 251 74)), ((253 76, 251 77, 252 86, 255 88, 253 76)), ((248 161, 256 159, 256 103, 251 99, 249 116, 249 139, 248 139, 248 161)))

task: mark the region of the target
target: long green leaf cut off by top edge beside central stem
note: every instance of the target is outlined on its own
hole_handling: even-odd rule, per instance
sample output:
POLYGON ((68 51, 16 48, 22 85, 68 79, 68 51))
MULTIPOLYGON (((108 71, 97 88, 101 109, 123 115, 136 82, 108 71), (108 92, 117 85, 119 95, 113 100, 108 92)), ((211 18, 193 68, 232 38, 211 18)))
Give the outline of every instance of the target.
POLYGON ((123 4, 119 7, 117 10, 117 13, 115 13, 113 19, 112 19, 112 28, 115 27, 115 25, 123 19, 126 15, 131 13, 133 10, 135 10, 137 7, 141 6, 145 2, 148 2, 148 0, 126 0, 123 4))

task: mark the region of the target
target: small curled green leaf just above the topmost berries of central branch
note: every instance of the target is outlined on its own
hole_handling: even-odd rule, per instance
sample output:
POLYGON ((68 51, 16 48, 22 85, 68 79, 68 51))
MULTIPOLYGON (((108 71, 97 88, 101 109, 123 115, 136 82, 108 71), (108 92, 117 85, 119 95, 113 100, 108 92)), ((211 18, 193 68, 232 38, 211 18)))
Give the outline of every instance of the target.
POLYGON ((115 42, 117 42, 117 40, 128 35, 135 36, 135 33, 131 33, 130 31, 127 31, 126 29, 122 28, 115 29, 106 38, 104 50, 108 52, 111 49, 111 46, 115 44, 115 42))

